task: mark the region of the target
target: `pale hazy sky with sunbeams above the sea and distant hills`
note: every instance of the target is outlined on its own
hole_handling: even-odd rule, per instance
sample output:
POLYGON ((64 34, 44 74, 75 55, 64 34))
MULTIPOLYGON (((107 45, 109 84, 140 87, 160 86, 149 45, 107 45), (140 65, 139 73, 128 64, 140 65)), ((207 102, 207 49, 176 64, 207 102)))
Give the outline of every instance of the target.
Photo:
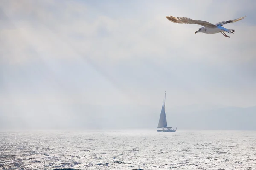
POLYGON ((254 0, 1 0, 2 127, 104 128, 150 111, 156 127, 165 91, 166 109, 256 106, 255 8, 254 0), (169 15, 247 17, 224 25, 236 30, 226 38, 194 34, 201 26, 169 15), (134 109, 142 106, 149 110, 134 109))

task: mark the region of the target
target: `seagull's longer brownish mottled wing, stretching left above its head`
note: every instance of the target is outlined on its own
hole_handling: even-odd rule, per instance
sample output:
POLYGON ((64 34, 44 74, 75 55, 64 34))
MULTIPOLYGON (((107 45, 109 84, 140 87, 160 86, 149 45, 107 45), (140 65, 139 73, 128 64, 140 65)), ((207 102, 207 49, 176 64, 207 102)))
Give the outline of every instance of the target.
POLYGON ((186 17, 173 17, 173 16, 166 16, 166 18, 169 21, 172 21, 173 23, 178 23, 178 24, 198 24, 204 27, 212 27, 215 28, 216 25, 206 22, 206 21, 198 21, 198 20, 192 20, 190 18, 186 18, 186 17))

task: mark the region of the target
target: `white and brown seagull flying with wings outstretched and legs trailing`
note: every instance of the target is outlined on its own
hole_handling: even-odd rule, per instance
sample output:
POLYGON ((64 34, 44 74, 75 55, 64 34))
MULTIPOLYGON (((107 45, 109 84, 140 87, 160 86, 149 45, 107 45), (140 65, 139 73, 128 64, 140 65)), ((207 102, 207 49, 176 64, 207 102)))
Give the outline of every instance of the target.
POLYGON ((195 31, 195 34, 198 33, 198 32, 202 32, 202 33, 205 33, 205 34, 221 33, 222 35, 224 35, 225 37, 228 37, 228 38, 230 38, 230 37, 227 36, 225 34, 225 32, 234 34, 235 30, 234 29, 224 28, 224 27, 222 27, 222 25, 228 24, 228 23, 234 23, 236 21, 244 19, 244 17, 241 17, 241 18, 237 18, 237 19, 234 19, 234 20, 222 21, 222 22, 219 22, 219 23, 216 23, 216 24, 212 24, 212 23, 209 23, 207 21, 192 20, 192 19, 187 18, 187 17, 177 17, 176 18, 176 17, 173 17, 173 16, 166 16, 166 18, 169 21, 172 21, 173 23, 178 23, 178 24, 198 24, 198 25, 203 26, 198 31, 195 31))

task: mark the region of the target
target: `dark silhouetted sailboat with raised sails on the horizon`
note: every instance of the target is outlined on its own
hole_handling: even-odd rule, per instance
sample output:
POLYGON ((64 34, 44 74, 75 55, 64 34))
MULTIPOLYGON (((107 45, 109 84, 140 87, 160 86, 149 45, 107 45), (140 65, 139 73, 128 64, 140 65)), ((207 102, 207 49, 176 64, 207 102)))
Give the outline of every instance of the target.
POLYGON ((157 126, 157 132, 176 132, 176 129, 172 129, 172 127, 167 127, 167 120, 166 120, 166 114, 165 114, 165 99, 166 99, 166 93, 164 93, 164 102, 162 105, 162 110, 157 126), (160 129, 162 128, 162 129, 160 129))

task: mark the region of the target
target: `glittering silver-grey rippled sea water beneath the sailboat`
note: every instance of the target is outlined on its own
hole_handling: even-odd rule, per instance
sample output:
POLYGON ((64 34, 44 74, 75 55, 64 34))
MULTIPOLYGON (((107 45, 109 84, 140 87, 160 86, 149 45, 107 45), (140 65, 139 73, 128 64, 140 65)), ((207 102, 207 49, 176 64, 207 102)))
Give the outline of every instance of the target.
POLYGON ((256 131, 0 132, 0 170, 256 170, 256 131))

